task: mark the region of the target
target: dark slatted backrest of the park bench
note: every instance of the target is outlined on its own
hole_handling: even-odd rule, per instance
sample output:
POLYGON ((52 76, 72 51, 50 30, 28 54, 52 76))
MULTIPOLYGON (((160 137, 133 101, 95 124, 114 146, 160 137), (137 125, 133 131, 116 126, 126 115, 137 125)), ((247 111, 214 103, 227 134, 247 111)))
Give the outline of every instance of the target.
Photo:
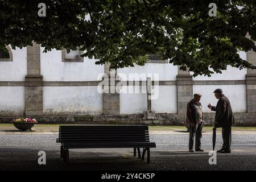
POLYGON ((146 125, 60 126, 59 142, 149 142, 146 125))

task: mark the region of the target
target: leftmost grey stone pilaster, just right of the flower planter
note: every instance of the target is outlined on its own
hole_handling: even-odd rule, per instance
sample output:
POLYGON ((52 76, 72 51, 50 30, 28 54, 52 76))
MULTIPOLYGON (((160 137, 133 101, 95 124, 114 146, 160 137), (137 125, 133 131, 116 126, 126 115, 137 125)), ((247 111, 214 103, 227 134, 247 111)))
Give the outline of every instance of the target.
POLYGON ((43 77, 40 75, 40 45, 27 47, 27 76, 25 79, 25 115, 43 114, 43 77))

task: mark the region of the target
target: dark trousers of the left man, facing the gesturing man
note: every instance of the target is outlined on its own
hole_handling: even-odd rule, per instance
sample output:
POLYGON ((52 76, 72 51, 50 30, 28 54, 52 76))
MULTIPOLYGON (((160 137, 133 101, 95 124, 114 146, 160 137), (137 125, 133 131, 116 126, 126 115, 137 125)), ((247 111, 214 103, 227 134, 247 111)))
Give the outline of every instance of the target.
POLYGON ((189 150, 193 150, 193 144, 196 137, 195 148, 196 150, 201 148, 201 138, 202 138, 202 126, 203 123, 196 123, 195 126, 189 126, 189 150))

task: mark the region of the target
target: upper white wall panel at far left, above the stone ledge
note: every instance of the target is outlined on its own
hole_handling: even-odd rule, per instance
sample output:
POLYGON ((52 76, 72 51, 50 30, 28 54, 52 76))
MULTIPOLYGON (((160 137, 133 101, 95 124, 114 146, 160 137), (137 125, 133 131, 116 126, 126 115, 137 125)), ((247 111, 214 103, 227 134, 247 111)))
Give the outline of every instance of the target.
POLYGON ((0 81, 24 81, 27 75, 27 47, 9 47, 13 61, 0 61, 0 81))

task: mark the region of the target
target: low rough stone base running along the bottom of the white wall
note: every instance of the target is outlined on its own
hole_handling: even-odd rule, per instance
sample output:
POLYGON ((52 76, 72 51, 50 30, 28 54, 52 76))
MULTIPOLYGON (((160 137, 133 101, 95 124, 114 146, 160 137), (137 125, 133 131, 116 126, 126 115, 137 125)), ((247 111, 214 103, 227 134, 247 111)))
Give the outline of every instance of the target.
MULTIPOLYGON (((207 125, 213 126, 214 113, 204 113, 207 125)), ((234 126, 256 126, 256 113, 234 113, 234 126)), ((155 114, 156 120, 143 120, 143 114, 129 115, 73 115, 73 116, 36 116, 39 123, 76 123, 76 124, 130 124, 130 125, 182 125, 185 114, 155 114)), ((0 117, 0 123, 9 123, 17 117, 0 117)))

